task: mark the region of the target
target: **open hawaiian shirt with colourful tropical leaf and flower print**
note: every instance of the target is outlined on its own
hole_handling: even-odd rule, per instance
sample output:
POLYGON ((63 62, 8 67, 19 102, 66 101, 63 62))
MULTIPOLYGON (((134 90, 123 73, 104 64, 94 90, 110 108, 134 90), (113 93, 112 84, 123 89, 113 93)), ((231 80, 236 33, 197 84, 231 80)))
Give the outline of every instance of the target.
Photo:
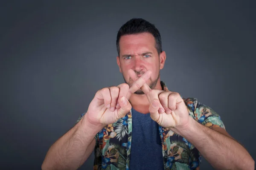
MULTIPOLYGON (((169 91, 163 81, 161 81, 161 86, 164 91, 169 91)), ((225 129, 220 116, 212 108, 201 104, 195 98, 183 98, 183 101, 187 106, 189 116, 197 122, 207 127, 225 129)), ((84 114, 80 115, 77 122, 81 120, 84 114)), ((169 128, 159 125, 159 132, 165 170, 199 170, 201 153, 195 146, 169 128)), ((125 117, 105 126, 96 134, 93 170, 129 170, 131 138, 132 113, 130 111, 125 117)))

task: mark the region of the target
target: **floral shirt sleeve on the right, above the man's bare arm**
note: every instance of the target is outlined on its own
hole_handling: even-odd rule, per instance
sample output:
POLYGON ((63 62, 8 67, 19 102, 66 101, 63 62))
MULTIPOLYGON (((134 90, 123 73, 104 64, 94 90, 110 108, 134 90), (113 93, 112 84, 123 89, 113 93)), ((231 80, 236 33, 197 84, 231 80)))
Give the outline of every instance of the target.
MULTIPOLYGON (((202 125, 207 127, 222 127, 225 129, 225 125, 221 120, 221 116, 218 115, 212 108, 198 102, 197 99, 188 99, 187 106, 192 112, 192 117, 202 125)), ((190 112, 190 114, 191 114, 190 112)))

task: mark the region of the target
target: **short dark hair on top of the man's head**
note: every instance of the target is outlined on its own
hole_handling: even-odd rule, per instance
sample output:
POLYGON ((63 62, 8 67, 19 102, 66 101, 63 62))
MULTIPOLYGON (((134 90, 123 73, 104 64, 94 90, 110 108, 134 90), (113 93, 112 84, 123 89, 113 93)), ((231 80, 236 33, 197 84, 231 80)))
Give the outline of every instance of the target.
POLYGON ((148 32, 154 36, 156 40, 157 53, 160 54, 162 52, 162 41, 160 32, 157 30, 154 24, 149 23, 142 18, 132 18, 131 20, 128 20, 124 25, 122 25, 117 33, 116 48, 118 56, 120 55, 119 41, 123 35, 140 34, 144 32, 148 32))

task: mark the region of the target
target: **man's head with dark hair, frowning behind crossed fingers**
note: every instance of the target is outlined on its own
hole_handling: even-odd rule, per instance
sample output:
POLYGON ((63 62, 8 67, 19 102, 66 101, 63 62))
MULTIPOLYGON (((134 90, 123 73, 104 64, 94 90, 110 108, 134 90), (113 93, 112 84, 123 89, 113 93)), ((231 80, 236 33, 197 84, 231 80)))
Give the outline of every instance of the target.
MULTIPOLYGON (((166 59, 157 28, 141 18, 131 19, 119 29, 116 48, 117 64, 125 82, 128 85, 134 82, 128 75, 129 69, 134 70, 138 76, 151 70, 152 74, 147 84, 153 89, 160 81, 160 69, 163 68, 166 59)), ((143 92, 139 90, 135 94, 143 92)))

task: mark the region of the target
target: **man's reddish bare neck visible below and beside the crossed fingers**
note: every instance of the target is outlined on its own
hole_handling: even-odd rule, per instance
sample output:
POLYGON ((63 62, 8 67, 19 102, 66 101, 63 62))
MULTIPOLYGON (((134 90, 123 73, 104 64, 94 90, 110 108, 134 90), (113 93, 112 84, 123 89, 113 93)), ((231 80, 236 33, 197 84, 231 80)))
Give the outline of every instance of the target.
MULTIPOLYGON (((157 81, 157 84, 154 89, 163 90, 160 84, 160 78, 157 81)), ((150 103, 148 102, 148 98, 145 94, 132 94, 129 102, 131 106, 140 113, 148 113, 148 108, 150 103)))

